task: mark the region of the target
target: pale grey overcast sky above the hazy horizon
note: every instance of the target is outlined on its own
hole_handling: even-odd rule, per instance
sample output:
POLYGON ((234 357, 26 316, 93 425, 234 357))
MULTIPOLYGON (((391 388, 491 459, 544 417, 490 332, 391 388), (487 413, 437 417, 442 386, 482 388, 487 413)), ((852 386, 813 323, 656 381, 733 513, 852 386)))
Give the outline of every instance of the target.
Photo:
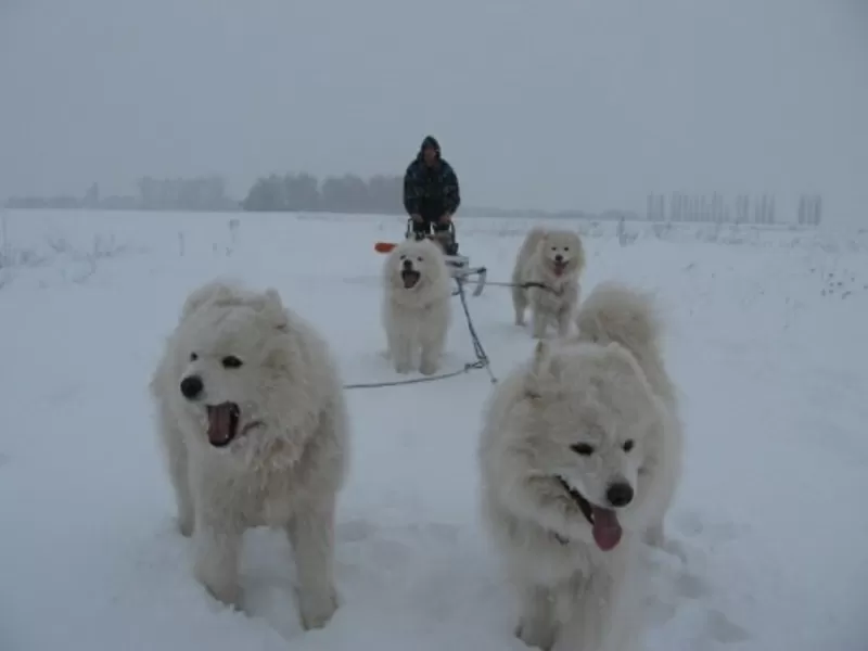
POLYGON ((868 221, 868 0, 0 0, 0 197, 401 174, 426 133, 468 204, 868 221))

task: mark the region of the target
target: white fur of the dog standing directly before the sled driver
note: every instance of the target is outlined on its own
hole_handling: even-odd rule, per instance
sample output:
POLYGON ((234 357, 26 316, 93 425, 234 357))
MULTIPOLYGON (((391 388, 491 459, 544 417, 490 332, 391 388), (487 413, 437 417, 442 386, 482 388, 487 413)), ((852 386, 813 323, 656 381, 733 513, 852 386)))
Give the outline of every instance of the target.
POLYGON ((419 352, 419 372, 436 373, 451 321, 451 277, 443 251, 430 240, 405 240, 386 258, 383 283, 383 328, 395 370, 410 372, 419 352), (409 289, 401 277, 406 264, 420 273, 409 289))

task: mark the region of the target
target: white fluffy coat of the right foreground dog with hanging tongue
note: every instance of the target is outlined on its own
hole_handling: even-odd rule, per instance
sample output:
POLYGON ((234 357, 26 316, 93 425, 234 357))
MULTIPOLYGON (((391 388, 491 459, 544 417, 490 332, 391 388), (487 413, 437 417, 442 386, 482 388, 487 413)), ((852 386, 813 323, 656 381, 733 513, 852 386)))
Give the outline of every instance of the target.
POLYGON ((662 539, 682 433, 650 301, 605 284, 578 323, 574 341, 539 342, 486 408, 483 521, 518 588, 521 639, 544 650, 621 651, 636 634, 630 569, 642 537, 662 539), (572 447, 579 443, 593 451, 583 456, 572 447), (633 501, 612 509, 618 545, 602 551, 557 477, 607 508, 612 483, 633 487, 633 501))

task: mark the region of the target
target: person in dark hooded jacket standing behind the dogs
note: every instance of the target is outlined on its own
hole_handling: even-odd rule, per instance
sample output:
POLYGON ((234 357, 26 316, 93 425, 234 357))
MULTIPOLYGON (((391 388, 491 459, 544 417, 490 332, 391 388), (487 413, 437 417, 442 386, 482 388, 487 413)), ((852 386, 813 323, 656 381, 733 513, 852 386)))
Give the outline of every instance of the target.
POLYGON ((448 231, 459 205, 455 169, 441 156, 437 140, 427 136, 404 175, 404 208, 412 219, 413 233, 448 231))

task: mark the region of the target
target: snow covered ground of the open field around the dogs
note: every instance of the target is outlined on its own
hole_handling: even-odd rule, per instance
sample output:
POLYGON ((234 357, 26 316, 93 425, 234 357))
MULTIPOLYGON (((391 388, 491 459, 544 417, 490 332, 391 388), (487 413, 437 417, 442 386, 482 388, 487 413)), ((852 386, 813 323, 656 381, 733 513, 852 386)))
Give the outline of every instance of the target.
MULTIPOLYGON (((463 252, 508 280, 528 224, 463 225, 463 252)), ((669 518, 684 559, 649 554, 647 649, 864 651, 865 243, 628 225, 637 238, 622 246, 612 225, 583 228, 586 289, 618 278, 659 292, 684 396, 687 472, 669 518)), ((477 522, 482 371, 348 394, 343 607, 326 629, 299 627, 280 534, 246 541, 246 616, 193 580, 176 533, 146 383, 190 289, 218 275, 277 286, 329 337, 345 382, 393 380, 372 243, 401 232, 393 217, 5 215, 0 649, 525 648, 477 522)), ((486 289, 471 309, 496 374, 531 353, 508 290, 486 289)), ((460 319, 448 358, 472 360, 460 319)))

